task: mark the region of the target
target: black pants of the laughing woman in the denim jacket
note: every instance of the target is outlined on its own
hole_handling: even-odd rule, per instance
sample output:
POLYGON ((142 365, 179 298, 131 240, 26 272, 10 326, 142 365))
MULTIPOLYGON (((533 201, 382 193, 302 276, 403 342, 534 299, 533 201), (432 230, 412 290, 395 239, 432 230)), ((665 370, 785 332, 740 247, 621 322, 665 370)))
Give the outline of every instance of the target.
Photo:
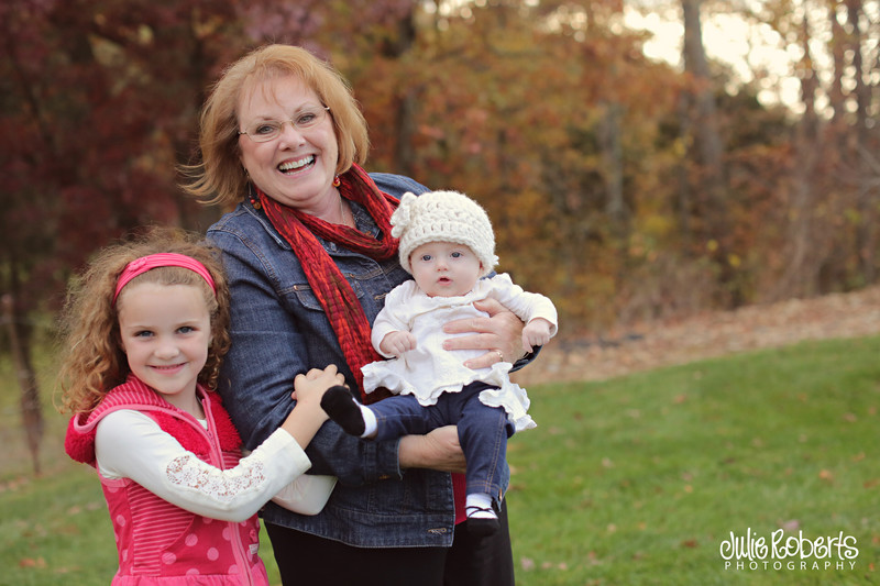
POLYGON ((514 559, 502 501, 501 529, 490 538, 455 527, 452 548, 352 548, 265 523, 282 584, 326 586, 514 586, 514 559))

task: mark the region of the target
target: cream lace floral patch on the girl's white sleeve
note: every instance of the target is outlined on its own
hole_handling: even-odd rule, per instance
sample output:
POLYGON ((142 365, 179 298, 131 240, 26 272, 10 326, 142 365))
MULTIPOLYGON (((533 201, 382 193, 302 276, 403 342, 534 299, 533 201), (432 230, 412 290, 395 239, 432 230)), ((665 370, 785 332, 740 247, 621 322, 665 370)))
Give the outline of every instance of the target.
POLYGON ((172 484, 197 490, 221 501, 229 501, 245 491, 256 490, 266 482, 263 462, 242 460, 234 468, 221 471, 191 454, 172 460, 165 473, 172 484))

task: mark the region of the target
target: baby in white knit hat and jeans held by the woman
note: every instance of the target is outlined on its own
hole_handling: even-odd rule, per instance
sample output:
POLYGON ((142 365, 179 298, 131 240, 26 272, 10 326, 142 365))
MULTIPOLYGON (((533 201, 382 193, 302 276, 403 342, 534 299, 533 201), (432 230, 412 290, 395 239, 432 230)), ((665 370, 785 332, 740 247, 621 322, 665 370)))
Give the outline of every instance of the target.
POLYGON ((495 264, 495 239, 486 212, 454 191, 405 194, 391 219, 400 239, 400 265, 413 275, 392 290, 373 324, 376 351, 392 360, 362 368, 364 390, 400 394, 369 408, 345 388, 330 389, 321 405, 348 433, 377 440, 427 433, 457 423, 468 462, 469 530, 498 527, 502 466, 514 431, 535 427, 526 391, 509 379, 510 363, 474 371, 464 361, 482 353, 443 350, 451 320, 482 317, 474 301, 494 297, 527 322, 524 352, 546 344, 557 331, 557 311, 541 295, 524 291, 506 274, 481 279, 495 264))

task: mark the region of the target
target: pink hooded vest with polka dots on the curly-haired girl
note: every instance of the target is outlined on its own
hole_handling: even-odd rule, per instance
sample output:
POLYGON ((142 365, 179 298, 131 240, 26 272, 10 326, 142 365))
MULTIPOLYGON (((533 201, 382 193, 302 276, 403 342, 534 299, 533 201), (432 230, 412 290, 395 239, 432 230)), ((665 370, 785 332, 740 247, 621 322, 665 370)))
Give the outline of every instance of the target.
MULTIPOLYGON (((134 409, 153 418, 204 462, 223 469, 234 467, 241 458, 241 439, 220 398, 201 387, 198 392, 208 432, 194 417, 130 376, 85 421, 70 419, 65 450, 74 460, 95 466, 98 422, 112 411, 134 409)), ((101 477, 101 486, 119 551, 114 586, 268 584, 257 556, 260 521, 255 515, 240 523, 220 521, 172 505, 129 478, 101 477)))

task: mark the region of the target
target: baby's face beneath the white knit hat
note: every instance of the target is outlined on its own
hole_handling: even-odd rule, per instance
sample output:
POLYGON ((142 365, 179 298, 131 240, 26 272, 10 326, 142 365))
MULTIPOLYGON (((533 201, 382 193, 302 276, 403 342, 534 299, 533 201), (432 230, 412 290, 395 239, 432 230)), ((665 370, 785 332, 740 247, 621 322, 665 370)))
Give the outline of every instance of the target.
POLYGON ((454 242, 429 242, 409 254, 416 285, 428 297, 459 297, 474 288, 483 265, 471 248, 454 242))

